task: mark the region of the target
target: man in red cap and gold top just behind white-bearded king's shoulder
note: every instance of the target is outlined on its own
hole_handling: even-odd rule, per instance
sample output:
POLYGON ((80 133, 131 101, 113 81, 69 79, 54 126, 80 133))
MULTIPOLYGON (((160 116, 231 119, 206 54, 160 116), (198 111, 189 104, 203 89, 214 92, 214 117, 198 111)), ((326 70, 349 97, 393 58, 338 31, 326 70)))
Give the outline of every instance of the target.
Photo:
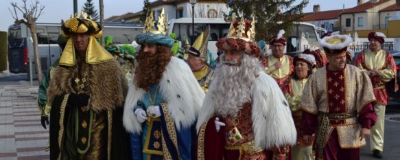
POLYGON ((280 30, 277 36, 270 39, 272 54, 266 56, 266 60, 263 62, 266 73, 278 82, 281 89, 294 71, 292 57, 283 53, 286 46, 286 38, 283 34, 285 31, 280 30))

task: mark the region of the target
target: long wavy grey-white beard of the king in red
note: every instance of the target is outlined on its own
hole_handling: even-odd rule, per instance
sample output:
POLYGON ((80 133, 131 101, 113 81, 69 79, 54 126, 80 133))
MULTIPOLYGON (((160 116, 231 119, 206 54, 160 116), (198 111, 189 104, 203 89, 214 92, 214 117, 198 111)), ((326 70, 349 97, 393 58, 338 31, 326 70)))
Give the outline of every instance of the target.
POLYGON ((218 64, 209 89, 215 114, 236 116, 243 104, 251 102, 250 88, 259 71, 263 71, 259 60, 246 54, 242 54, 239 66, 218 64))

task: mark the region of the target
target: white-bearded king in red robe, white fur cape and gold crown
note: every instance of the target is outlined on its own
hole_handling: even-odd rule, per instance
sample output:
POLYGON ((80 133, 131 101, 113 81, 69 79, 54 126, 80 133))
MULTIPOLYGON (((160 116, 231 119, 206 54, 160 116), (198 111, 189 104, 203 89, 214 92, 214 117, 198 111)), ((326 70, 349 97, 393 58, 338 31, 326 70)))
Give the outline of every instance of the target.
POLYGON ((285 96, 259 62, 254 27, 254 19, 233 20, 217 42, 221 62, 199 112, 196 159, 286 159, 296 143, 285 96))

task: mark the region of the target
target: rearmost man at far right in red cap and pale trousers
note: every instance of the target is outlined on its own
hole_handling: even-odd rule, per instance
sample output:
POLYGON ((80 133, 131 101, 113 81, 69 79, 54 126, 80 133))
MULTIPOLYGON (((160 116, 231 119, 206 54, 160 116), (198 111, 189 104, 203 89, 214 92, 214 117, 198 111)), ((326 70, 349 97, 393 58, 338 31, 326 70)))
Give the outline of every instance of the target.
MULTIPOLYGON (((396 77, 396 65, 392 54, 381 49, 381 44, 385 42, 385 34, 380 32, 370 32, 368 34, 369 49, 362 51, 355 59, 354 65, 362 69, 370 77, 373 83, 373 93, 377 98, 374 105, 378 115, 377 124, 371 128, 370 150, 374 157, 382 158, 384 151, 384 124, 385 106, 388 104, 388 82, 396 77)), ((397 83, 396 83, 397 84, 397 83)), ((397 91, 397 86, 395 91, 397 91)))

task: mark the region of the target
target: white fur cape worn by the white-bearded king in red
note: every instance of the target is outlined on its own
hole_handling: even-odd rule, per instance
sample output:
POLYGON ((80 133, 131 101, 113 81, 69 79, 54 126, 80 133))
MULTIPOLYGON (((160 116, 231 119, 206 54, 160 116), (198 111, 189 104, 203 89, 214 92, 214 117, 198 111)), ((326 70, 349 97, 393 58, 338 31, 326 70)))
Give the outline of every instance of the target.
MULTIPOLYGON (((292 113, 277 82, 261 71, 252 83, 250 91, 255 146, 270 149, 272 146, 296 144, 296 128, 292 113)), ((197 130, 215 114, 215 104, 209 95, 207 94, 204 99, 196 125, 197 130)))

